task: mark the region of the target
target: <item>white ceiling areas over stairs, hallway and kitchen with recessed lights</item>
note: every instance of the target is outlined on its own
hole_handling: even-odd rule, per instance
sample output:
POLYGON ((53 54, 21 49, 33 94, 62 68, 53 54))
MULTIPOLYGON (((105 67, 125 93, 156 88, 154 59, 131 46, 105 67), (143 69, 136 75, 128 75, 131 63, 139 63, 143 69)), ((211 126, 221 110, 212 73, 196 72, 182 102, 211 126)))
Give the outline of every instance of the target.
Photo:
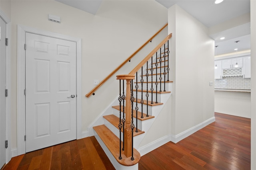
MULTIPOLYGON (((56 0, 74 8, 84 10, 90 14, 97 14, 102 0, 56 0)), ((250 12, 250 0, 224 0, 220 4, 214 4, 214 0, 156 0, 166 8, 177 4, 190 15, 202 22, 207 27, 228 22, 234 18, 250 12)), ((229 29, 223 29, 210 35, 218 45, 217 54, 232 53, 234 46, 238 51, 250 49, 250 23, 236 25, 229 29), (220 37, 226 37, 220 40, 220 37), (234 41, 240 41, 234 43, 234 41)))

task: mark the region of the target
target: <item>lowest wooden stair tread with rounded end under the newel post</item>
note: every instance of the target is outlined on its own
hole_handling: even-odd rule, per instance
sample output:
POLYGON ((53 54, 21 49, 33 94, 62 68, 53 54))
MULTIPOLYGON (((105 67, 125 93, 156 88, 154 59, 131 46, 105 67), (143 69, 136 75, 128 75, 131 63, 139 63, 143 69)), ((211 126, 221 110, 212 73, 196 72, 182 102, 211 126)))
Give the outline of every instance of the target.
POLYGON ((104 142, 104 144, 106 145, 108 150, 110 150, 110 152, 112 153, 114 158, 116 158, 116 160, 121 165, 132 166, 139 162, 140 153, 136 149, 133 149, 134 160, 131 160, 131 157, 127 158, 124 155, 123 151, 121 151, 122 159, 119 160, 119 154, 120 154, 119 142, 120 142, 120 140, 112 131, 110 131, 110 129, 108 129, 108 127, 106 127, 105 125, 99 125, 99 126, 94 126, 93 129, 99 135, 100 139, 104 142))

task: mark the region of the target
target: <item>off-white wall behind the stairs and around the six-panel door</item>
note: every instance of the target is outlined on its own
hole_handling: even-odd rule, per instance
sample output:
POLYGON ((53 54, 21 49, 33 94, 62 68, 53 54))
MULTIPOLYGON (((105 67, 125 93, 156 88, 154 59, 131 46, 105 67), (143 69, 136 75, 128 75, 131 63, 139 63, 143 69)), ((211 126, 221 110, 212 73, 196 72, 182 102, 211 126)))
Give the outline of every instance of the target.
MULTIPOLYGON (((86 132, 90 123, 118 95, 118 81, 114 76, 95 96, 86 98, 94 88, 93 80, 103 80, 167 23, 167 9, 154 0, 103 1, 95 16, 54 0, 12 0, 11 16, 12 148, 17 146, 17 24, 82 38, 82 131, 86 132), (61 23, 48 21, 48 14, 60 16, 61 23)), ((154 48, 167 36, 167 30, 165 33, 147 47, 154 48)), ((135 66, 134 63, 149 52, 137 55, 138 59, 132 59, 117 74, 128 74, 133 68, 131 65, 135 66)))

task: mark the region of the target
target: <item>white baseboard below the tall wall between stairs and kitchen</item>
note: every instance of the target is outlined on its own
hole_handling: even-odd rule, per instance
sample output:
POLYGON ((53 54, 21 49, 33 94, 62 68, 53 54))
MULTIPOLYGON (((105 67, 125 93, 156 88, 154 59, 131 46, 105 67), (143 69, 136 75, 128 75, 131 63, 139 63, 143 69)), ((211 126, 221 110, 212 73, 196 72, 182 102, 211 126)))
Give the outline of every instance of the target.
POLYGON ((192 135, 193 133, 195 133, 196 131, 202 129, 203 127, 206 127, 207 125, 209 125, 210 123, 215 121, 215 117, 212 117, 178 135, 170 135, 171 136, 171 140, 173 143, 177 143, 179 141, 181 141, 182 139, 188 137, 189 135, 192 135))

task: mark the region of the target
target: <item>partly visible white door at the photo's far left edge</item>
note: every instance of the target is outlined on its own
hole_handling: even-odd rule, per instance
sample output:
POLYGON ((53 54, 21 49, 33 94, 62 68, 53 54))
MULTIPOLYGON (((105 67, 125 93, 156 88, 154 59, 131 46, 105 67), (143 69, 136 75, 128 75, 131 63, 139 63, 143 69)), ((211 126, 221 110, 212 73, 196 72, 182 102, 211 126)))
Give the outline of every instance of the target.
POLYGON ((6 23, 0 18, 0 169, 6 162, 6 23))

